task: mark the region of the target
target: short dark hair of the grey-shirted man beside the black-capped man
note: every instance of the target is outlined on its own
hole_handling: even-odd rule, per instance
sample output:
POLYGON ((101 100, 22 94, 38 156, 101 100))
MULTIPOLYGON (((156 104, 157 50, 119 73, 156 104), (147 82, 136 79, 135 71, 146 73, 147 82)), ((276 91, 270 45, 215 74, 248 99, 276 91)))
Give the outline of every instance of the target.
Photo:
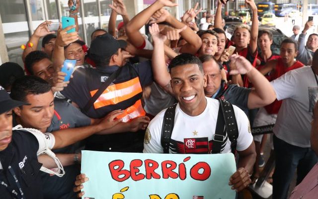
POLYGON ((27 95, 45 94, 51 91, 51 86, 45 80, 36 76, 24 76, 12 84, 10 97, 13 100, 27 102, 27 95))

